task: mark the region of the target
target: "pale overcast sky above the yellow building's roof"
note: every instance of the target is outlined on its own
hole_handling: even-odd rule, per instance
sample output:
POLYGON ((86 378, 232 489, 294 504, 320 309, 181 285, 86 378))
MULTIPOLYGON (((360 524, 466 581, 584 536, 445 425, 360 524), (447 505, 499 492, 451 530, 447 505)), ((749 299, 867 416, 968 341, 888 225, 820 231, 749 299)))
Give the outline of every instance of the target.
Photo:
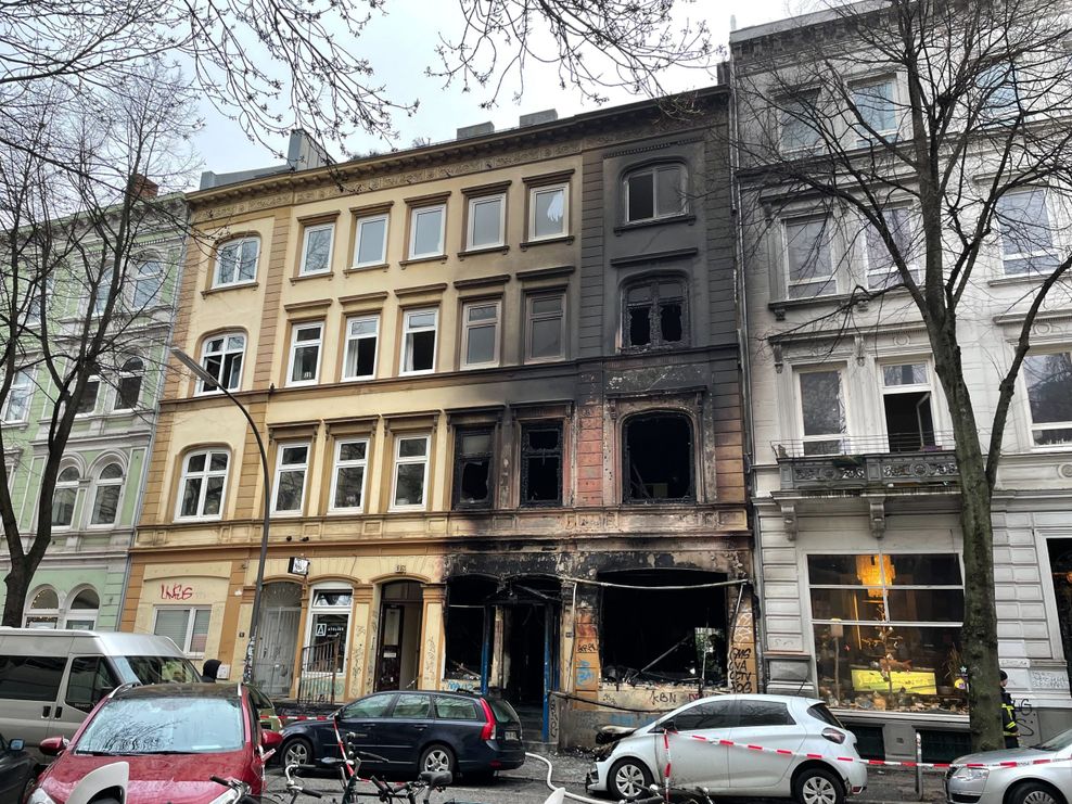
MULTIPOLYGON (((352 0, 354 1, 354 0, 352 0)), ((729 39, 730 17, 736 17, 738 28, 760 25, 773 20, 792 16, 800 12, 801 0, 699 0, 694 4, 681 4, 680 10, 692 18, 707 14, 712 40, 726 44, 729 39)), ((393 100, 411 102, 420 100, 420 107, 410 117, 398 115, 394 126, 398 136, 387 143, 370 135, 357 135, 349 140, 357 153, 387 151, 391 148, 407 149, 417 138, 433 142, 449 140, 456 129, 492 120, 496 130, 518 125, 522 114, 554 109, 559 117, 569 117, 591 111, 575 90, 563 91, 558 86, 553 66, 532 62, 526 71, 526 86, 522 100, 514 102, 515 88, 501 93, 498 105, 492 110, 480 107, 486 93, 464 93, 460 87, 446 89, 442 80, 424 75, 425 67, 435 66, 435 46, 439 30, 448 35, 460 30, 452 0, 390 0, 386 15, 379 13, 366 29, 356 47, 369 59, 377 71, 377 79, 386 86, 393 100), (430 12, 430 9, 435 11, 430 12)), ((681 91, 713 82, 713 77, 698 71, 679 71, 663 78, 671 91, 681 91)), ((612 93, 611 104, 639 100, 627 92, 612 93)), ((216 173, 245 170, 254 167, 280 164, 272 153, 259 143, 250 142, 237 124, 219 115, 210 107, 201 111, 205 127, 197 137, 195 148, 203 159, 202 169, 216 173)), ((278 144, 285 151, 286 143, 278 144)), ((333 154, 339 156, 339 154, 333 154)))

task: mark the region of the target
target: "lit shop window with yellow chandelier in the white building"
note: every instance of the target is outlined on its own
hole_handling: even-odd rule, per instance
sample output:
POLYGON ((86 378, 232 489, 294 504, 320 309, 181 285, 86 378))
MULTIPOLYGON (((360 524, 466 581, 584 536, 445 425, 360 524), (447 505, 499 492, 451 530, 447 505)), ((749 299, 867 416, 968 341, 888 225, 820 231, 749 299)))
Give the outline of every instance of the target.
POLYGON ((819 694, 833 706, 967 712, 955 553, 807 557, 819 694))

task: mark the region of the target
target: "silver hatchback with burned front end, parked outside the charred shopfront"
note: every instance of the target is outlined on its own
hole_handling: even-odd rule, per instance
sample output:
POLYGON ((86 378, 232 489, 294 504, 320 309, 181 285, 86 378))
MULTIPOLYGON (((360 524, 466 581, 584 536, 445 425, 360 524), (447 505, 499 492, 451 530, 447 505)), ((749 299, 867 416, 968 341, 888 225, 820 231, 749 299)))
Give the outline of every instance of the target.
POLYGON ((718 795, 843 804, 867 787, 856 737, 821 701, 793 695, 715 695, 680 706, 620 739, 596 762, 586 787, 635 799, 662 778, 718 795), (664 733, 672 732, 669 757, 664 733), (677 733, 673 733, 677 732, 677 733), (701 738, 701 739, 697 739, 701 738), (728 745, 724 741, 732 741, 728 745), (742 745, 758 745, 766 751, 742 745))

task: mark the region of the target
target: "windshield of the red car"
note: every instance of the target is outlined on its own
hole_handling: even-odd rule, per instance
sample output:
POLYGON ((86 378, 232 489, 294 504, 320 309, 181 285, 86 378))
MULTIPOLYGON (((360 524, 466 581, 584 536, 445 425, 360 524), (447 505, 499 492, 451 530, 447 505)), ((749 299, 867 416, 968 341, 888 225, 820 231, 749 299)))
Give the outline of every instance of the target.
POLYGON ((76 754, 213 754, 242 748, 242 707, 225 698, 109 701, 82 732, 76 754))

